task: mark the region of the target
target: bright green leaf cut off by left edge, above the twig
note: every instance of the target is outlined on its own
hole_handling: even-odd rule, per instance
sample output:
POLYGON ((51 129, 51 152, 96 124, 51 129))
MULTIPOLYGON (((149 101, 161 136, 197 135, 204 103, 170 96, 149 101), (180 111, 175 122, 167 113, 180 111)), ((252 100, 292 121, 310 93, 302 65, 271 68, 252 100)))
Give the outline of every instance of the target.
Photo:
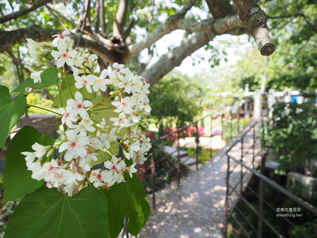
POLYGON ((25 97, 23 94, 16 96, 12 101, 9 89, 0 85, 0 148, 2 148, 11 129, 20 121, 21 116, 25 113, 25 97))

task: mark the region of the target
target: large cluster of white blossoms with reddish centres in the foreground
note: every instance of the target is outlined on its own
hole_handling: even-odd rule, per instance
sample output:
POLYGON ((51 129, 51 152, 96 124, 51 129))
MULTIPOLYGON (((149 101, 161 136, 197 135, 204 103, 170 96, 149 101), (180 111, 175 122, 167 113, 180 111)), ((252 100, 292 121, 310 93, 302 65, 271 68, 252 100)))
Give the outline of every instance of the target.
MULTIPOLYGON (((79 90, 85 86, 87 91, 92 93, 91 98, 96 94, 102 94, 106 91, 107 85, 112 83, 115 90, 110 92, 110 97, 107 99, 101 96, 102 100, 98 105, 109 100, 110 107, 113 107, 118 116, 109 118, 112 123, 110 125, 106 118, 103 118, 101 122, 92 120, 91 114, 98 105, 93 105, 89 100, 83 100, 82 94, 76 91, 74 98, 69 98, 67 105, 59 108, 61 123, 64 129, 65 125, 68 127, 66 131, 58 131, 63 136, 63 142, 52 146, 35 143, 32 146, 34 152, 22 152, 22 154, 26 155, 26 165, 33 173, 32 178, 44 179, 48 187, 58 188, 66 185, 63 189, 71 196, 74 186, 85 177, 88 179, 86 186, 90 182, 95 187, 107 189, 115 182, 125 182, 124 172, 132 177, 132 173, 137 171, 134 168, 136 163, 144 163, 146 154, 151 148, 150 139, 141 134, 138 126, 143 115, 151 111, 151 107, 148 99, 149 83, 143 77, 133 75, 125 65, 118 63, 113 63, 112 72, 109 73, 107 69, 104 69, 100 76, 96 76, 94 69, 97 56, 83 53, 80 48, 73 49, 74 42, 68 36, 69 34, 69 31, 63 31, 55 35, 57 37, 52 42, 53 46, 46 42, 37 43, 27 39, 29 52, 37 57, 50 51, 51 55, 57 58, 56 67, 61 72, 63 69, 60 68, 64 68, 65 63, 71 66, 76 81, 75 87, 79 90), (52 50, 45 49, 47 46, 52 50), (57 47, 58 51, 54 50, 54 47, 57 47), (120 135, 122 128, 127 128, 129 133, 120 135), (118 141, 119 135, 123 138, 120 141, 118 141), (125 158, 112 155, 111 160, 101 161, 104 165, 103 169, 91 172, 91 162, 100 161, 99 152, 106 151, 111 154, 110 147, 118 146, 118 144, 123 148, 125 158, 132 159, 132 165, 126 166, 125 158), (58 149, 60 155, 57 160, 49 161, 55 149, 58 149), (76 160, 77 165, 75 165, 76 160)), ((49 65, 46 59, 43 60, 46 62, 45 65, 49 65)), ((30 77, 34 79, 34 83, 41 83, 43 70, 32 71, 30 77)), ((26 90, 29 91, 29 89, 26 90)))

